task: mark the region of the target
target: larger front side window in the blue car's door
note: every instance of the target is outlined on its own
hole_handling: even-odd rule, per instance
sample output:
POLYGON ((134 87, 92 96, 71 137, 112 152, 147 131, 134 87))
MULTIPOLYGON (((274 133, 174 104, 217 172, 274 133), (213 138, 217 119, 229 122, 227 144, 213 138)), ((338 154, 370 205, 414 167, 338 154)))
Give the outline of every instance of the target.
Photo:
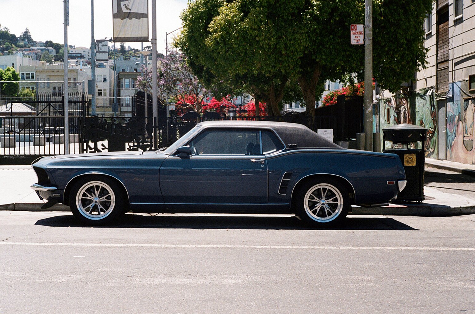
POLYGON ((249 129, 209 129, 195 137, 190 143, 199 155, 259 155, 259 131, 249 129))

